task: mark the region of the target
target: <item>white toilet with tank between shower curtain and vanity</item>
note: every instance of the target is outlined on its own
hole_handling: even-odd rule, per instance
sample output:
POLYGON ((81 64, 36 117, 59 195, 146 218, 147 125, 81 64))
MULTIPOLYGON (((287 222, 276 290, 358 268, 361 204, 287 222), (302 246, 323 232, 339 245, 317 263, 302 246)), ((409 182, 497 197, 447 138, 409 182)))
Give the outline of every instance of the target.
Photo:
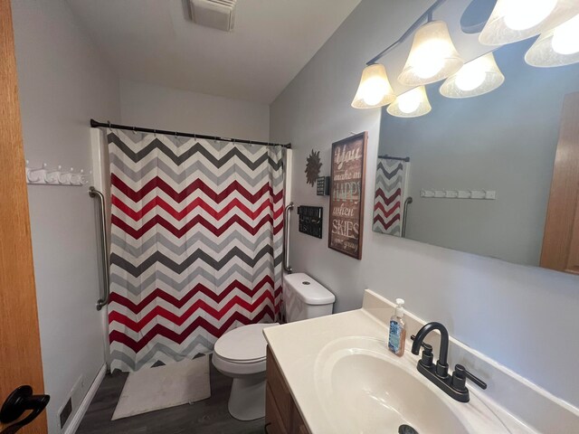
MULTIPOLYGON (((289 274, 283 278, 283 303, 286 320, 331 315, 336 297, 307 274, 289 274)), ((221 336, 214 347, 213 363, 217 370, 233 377, 229 412, 238 420, 265 416, 265 356, 263 329, 275 324, 242 325, 221 336)))

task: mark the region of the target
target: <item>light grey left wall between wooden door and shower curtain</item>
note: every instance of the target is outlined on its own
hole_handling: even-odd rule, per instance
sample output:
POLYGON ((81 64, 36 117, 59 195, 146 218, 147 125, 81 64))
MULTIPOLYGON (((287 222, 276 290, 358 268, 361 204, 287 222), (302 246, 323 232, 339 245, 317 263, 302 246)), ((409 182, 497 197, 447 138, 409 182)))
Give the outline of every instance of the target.
MULTIPOLYGON (((31 165, 90 170, 90 118, 119 118, 119 80, 66 2, 14 0, 14 34, 31 165)), ((76 410, 104 361, 94 200, 87 187, 28 188, 49 432, 75 394, 76 410)))

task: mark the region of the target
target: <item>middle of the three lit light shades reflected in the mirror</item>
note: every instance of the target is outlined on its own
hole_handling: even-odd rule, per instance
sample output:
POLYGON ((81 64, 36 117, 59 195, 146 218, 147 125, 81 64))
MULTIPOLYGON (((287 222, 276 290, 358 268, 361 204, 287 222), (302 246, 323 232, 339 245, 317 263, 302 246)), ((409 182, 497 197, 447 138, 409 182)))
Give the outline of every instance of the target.
POLYGON ((505 82, 492 52, 469 61, 441 86, 447 98, 470 98, 489 93, 505 82))

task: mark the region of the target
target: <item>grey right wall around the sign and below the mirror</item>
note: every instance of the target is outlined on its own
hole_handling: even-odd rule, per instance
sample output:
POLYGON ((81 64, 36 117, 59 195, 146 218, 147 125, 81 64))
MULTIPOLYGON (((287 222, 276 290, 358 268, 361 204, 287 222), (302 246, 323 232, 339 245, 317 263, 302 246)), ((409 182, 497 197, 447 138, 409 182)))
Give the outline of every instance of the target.
MULTIPOLYGON (((324 206, 325 232, 328 199, 316 196, 315 188, 306 184, 306 156, 312 148, 321 150, 322 175, 329 175, 331 143, 351 131, 369 132, 363 259, 327 249, 327 233, 323 240, 308 237, 298 232, 298 219, 293 219, 291 265, 331 288, 337 311, 360 307, 365 288, 390 299, 404 297, 416 315, 441 321, 460 341, 579 406, 574 375, 579 359, 579 278, 387 237, 371 229, 380 110, 351 109, 350 103, 365 61, 394 42, 431 3, 363 0, 272 104, 271 140, 290 141, 295 149, 294 202, 324 206)), ((435 17, 456 26, 449 11, 460 12, 468 3, 447 2, 435 17)), ((463 41, 455 42, 472 59, 465 53, 468 47, 461 49, 463 41)), ((406 49, 400 47, 386 58, 394 71, 400 71, 406 49)), ((393 81, 395 74, 391 72, 393 81)))

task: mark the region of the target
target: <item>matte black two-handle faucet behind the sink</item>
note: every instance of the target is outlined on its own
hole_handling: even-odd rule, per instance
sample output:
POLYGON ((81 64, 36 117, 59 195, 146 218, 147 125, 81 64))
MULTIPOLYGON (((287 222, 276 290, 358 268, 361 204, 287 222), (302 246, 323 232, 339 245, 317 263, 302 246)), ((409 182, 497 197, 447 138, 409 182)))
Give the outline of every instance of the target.
POLYGON ((436 384, 443 392, 451 396, 452 399, 460 402, 470 401, 469 390, 466 387, 466 379, 477 384, 481 389, 486 389, 487 384, 468 372, 464 366, 457 364, 454 372, 449 375, 449 365, 447 362, 449 354, 449 332, 441 323, 428 323, 423 325, 418 333, 411 336, 413 339, 412 353, 418 355, 422 346, 422 357, 418 361, 416 368, 431 382, 436 384), (438 354, 438 362, 432 364, 432 345, 423 344, 422 341, 432 332, 438 330, 441 332, 441 349, 438 354))

